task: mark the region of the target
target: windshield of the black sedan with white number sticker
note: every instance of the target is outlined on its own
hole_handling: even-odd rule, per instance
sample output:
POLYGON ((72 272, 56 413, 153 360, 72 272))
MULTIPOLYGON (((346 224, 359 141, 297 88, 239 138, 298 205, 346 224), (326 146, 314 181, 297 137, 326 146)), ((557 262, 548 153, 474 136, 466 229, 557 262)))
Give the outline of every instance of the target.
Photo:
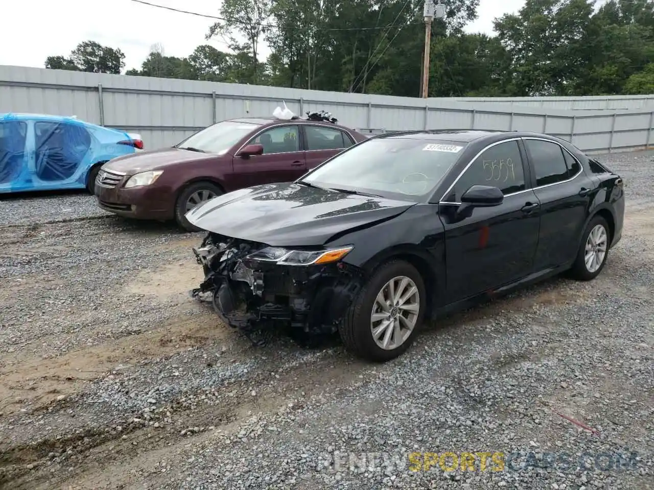
POLYGON ((464 146, 421 139, 372 139, 337 155, 302 181, 418 201, 434 191, 464 146))

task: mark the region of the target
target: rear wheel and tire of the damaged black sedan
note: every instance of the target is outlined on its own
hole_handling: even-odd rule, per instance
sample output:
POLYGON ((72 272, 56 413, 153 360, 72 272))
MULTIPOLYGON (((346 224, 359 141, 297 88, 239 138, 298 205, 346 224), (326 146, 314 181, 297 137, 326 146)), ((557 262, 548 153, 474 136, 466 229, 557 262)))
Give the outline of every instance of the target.
POLYGON ((570 269, 572 277, 581 281, 596 278, 606 264, 610 240, 608 223, 602 216, 595 216, 583 232, 577 258, 570 269))

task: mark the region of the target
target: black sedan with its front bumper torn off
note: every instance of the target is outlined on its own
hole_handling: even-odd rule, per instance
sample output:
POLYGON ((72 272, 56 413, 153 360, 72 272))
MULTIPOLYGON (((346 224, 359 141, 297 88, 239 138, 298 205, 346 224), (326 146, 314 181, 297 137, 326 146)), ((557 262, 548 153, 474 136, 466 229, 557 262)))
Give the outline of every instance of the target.
POLYGON ((560 272, 593 279, 624 212, 622 178, 564 140, 407 131, 186 218, 209 231, 195 293, 228 325, 338 331, 386 361, 427 319, 560 272))

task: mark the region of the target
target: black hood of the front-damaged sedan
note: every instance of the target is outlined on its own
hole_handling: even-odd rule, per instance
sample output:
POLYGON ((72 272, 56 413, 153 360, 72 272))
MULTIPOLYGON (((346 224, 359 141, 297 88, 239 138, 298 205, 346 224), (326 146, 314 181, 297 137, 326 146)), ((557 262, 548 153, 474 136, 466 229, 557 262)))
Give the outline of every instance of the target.
POLYGON ((398 216, 413 205, 301 184, 267 184, 215 197, 188 212, 186 219, 227 237, 271 246, 313 246, 398 216))

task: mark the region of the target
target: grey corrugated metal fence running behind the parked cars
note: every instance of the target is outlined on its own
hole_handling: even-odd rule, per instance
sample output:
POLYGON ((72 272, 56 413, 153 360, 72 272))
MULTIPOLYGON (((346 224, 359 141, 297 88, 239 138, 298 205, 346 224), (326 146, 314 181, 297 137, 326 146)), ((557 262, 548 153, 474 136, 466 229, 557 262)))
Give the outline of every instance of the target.
POLYGON ((296 114, 327 110, 339 123, 355 129, 377 128, 375 132, 537 131, 570 140, 587 152, 636 150, 654 144, 653 96, 425 100, 0 66, 0 112, 75 115, 141 133, 148 148, 170 146, 220 120, 269 116, 281 101, 296 114), (579 109, 579 101, 592 106, 598 100, 605 106, 579 109), (607 100, 609 105, 637 101, 641 108, 611 109, 607 100), (556 104, 567 104, 568 109, 549 106, 556 104))

